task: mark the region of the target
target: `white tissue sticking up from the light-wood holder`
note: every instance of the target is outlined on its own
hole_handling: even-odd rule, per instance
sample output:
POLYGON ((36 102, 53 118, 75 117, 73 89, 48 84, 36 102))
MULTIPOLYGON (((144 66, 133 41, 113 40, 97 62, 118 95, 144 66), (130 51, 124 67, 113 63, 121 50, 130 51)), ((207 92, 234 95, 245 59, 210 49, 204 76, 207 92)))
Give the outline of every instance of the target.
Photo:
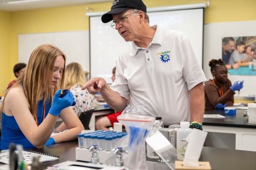
POLYGON ((186 167, 198 167, 198 160, 201 155, 201 151, 204 146, 204 141, 207 136, 207 132, 198 129, 192 129, 186 138, 188 145, 186 148, 185 156, 183 159, 183 165, 186 167))

